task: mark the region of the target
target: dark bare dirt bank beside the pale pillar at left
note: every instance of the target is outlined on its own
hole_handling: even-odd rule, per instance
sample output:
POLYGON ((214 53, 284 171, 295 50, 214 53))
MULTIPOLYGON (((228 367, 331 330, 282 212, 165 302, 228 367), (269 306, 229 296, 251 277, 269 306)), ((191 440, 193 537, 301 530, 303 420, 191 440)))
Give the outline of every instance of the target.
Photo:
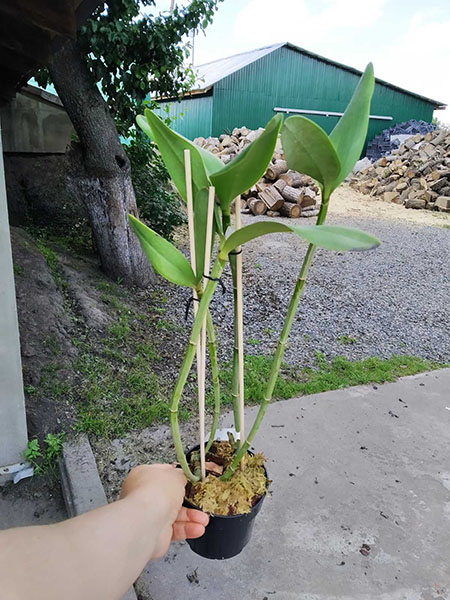
POLYGON ((43 378, 72 376, 77 350, 61 290, 35 240, 22 229, 11 228, 17 311, 19 315, 23 379, 30 437, 44 436, 70 426, 73 408, 65 398, 53 402, 38 394, 43 378))

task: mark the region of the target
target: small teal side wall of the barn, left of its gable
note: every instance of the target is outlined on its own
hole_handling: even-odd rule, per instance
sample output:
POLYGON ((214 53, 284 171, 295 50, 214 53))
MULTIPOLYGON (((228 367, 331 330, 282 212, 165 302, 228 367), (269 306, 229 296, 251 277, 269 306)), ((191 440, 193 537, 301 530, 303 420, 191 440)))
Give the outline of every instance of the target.
POLYGON ((198 136, 208 137, 211 135, 211 120, 213 97, 200 96, 185 98, 181 102, 161 102, 156 114, 165 118, 166 107, 169 107, 169 116, 175 118, 172 128, 189 139, 198 136))

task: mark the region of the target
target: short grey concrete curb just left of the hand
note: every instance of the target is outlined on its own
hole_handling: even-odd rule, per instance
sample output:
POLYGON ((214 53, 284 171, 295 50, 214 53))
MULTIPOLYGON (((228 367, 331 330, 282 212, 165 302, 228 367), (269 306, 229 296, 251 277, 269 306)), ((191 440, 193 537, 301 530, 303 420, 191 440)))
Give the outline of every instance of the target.
MULTIPOLYGON (((59 470, 69 517, 108 503, 87 435, 80 434, 64 442, 59 470)), ((123 600, 137 600, 134 587, 128 590, 123 600)))

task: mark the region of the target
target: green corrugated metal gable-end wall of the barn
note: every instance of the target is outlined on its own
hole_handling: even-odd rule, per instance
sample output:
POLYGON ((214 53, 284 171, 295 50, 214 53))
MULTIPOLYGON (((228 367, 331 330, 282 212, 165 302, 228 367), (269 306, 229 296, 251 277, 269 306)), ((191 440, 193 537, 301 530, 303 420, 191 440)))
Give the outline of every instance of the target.
MULTIPOLYGON (((283 47, 214 85, 212 135, 246 125, 264 126, 275 106, 343 112, 359 80, 345 71, 283 47)), ((371 121, 368 139, 408 119, 431 121, 433 105, 376 84, 371 113, 392 121, 371 121)), ((337 117, 310 116, 330 132, 337 117)))

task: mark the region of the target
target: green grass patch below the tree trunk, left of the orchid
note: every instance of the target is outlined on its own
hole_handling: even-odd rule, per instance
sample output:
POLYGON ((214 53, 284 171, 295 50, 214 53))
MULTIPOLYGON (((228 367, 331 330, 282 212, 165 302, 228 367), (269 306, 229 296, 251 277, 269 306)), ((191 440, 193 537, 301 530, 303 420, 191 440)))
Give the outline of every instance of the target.
MULTIPOLYGON (((102 282, 97 288, 102 300, 115 309, 116 321, 96 343, 89 335, 74 340, 79 350, 76 427, 99 437, 120 437, 168 420, 168 394, 155 373, 160 356, 148 331, 155 326, 173 331, 176 326, 161 318, 164 307, 135 313, 122 303, 123 292, 114 284, 102 282)), ((164 298, 158 301, 164 303, 164 298)), ((184 408, 181 418, 188 418, 184 408)))

